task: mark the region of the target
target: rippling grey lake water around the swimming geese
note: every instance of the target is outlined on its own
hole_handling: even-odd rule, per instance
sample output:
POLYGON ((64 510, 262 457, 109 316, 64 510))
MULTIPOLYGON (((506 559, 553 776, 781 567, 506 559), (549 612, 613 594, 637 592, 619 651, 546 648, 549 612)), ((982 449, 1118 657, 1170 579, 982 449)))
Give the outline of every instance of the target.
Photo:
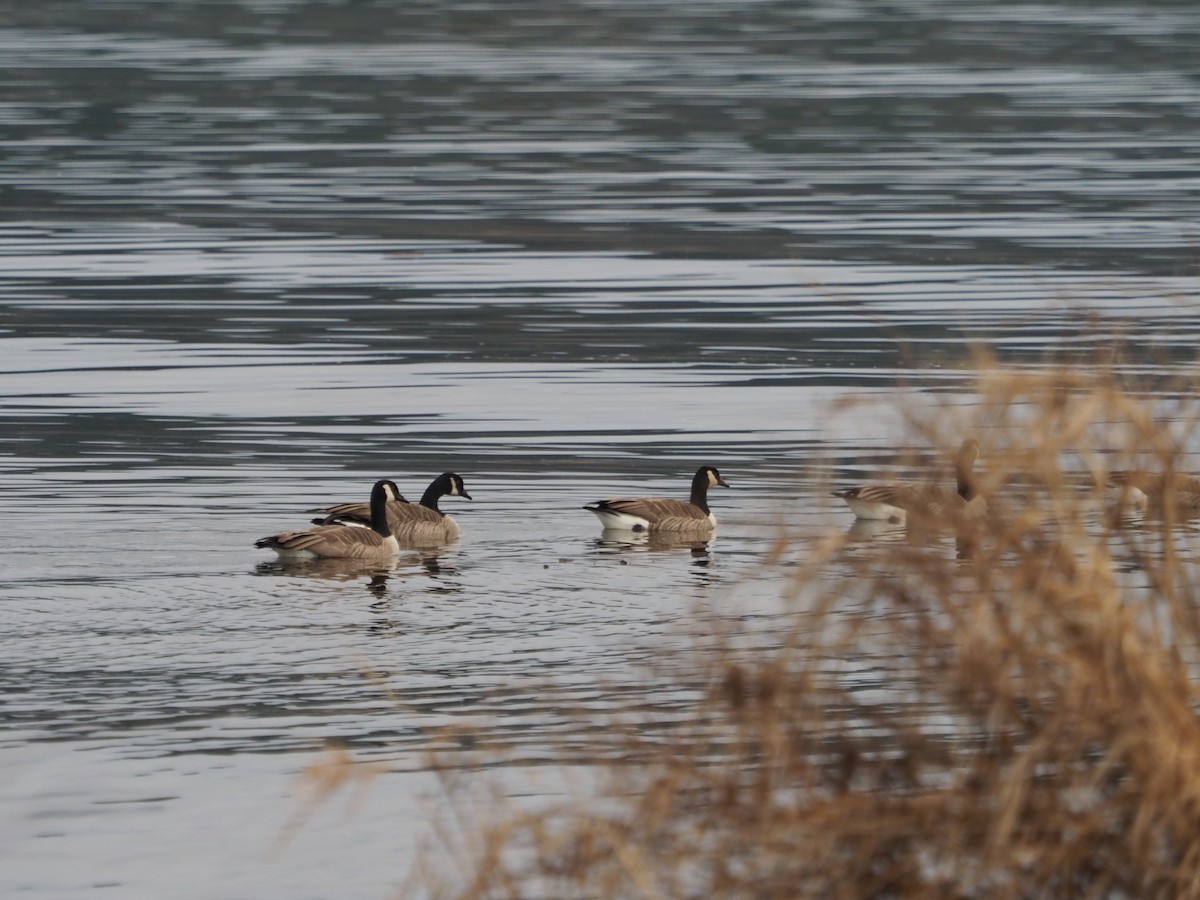
POLYGON ((899 394, 1200 340, 1190 0, 0 12, 5 895, 385 898, 436 728, 518 770, 547 679, 670 715, 689 622, 769 642, 899 394), (707 551, 598 541, 702 462, 707 551), (443 470, 444 552, 252 546, 443 470), (389 774, 310 814, 330 745, 389 774))

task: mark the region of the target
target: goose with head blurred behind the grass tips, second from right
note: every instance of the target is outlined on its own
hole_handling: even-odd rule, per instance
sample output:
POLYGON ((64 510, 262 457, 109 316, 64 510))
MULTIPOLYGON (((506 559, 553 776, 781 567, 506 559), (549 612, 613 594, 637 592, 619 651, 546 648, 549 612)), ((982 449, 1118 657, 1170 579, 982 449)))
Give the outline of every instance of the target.
POLYGON ((979 442, 967 438, 955 456, 954 469, 958 490, 940 485, 906 481, 883 481, 834 491, 859 518, 904 522, 910 512, 928 520, 974 517, 986 510, 986 500, 974 487, 974 462, 979 458, 979 442))

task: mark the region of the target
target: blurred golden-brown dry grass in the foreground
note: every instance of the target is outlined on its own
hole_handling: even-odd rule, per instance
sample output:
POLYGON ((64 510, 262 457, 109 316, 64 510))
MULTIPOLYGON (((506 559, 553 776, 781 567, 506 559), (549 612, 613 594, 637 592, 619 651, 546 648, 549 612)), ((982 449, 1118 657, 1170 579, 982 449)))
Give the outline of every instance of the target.
POLYGON ((697 636, 704 703, 630 737, 595 798, 498 812, 422 893, 1200 896, 1190 533, 1092 488, 1176 468, 1195 416, 1153 396, 992 368, 970 422, 914 420, 947 458, 983 439, 988 521, 956 548, 806 545, 773 647, 697 636))

